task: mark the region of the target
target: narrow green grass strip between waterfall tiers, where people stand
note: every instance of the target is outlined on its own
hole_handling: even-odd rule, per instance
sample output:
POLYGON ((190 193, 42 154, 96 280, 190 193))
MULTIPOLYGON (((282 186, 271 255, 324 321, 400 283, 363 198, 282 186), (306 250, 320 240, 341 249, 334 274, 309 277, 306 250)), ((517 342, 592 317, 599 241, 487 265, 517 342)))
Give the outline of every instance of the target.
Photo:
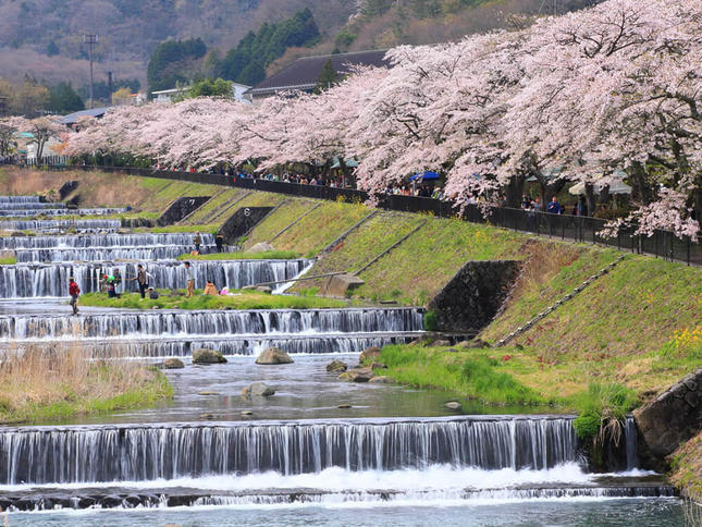
POLYGON ((161 295, 152 301, 141 299, 137 293, 122 295, 121 298, 108 298, 104 293, 87 293, 81 296, 81 305, 97 307, 116 307, 131 309, 319 309, 348 307, 346 301, 321 298, 315 296, 270 295, 257 291, 244 291, 231 296, 196 295, 187 298, 184 291, 171 296, 169 290, 159 290, 161 295))

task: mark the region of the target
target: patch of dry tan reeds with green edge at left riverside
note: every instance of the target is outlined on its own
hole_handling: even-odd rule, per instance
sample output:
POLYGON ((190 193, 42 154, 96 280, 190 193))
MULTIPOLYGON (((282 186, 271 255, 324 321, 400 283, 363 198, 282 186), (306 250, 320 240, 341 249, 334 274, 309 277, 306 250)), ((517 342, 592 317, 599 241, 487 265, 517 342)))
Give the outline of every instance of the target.
POLYGON ((158 370, 93 356, 79 345, 28 350, 0 364, 0 422, 36 422, 139 408, 173 396, 158 370))

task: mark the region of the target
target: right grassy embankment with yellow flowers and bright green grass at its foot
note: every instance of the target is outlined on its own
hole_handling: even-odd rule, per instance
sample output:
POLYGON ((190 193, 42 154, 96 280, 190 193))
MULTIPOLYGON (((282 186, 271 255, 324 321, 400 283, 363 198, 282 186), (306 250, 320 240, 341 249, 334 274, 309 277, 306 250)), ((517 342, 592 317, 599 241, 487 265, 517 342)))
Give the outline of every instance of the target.
MULTIPOLYGON (((533 245, 512 299, 480 339, 496 342, 619 256, 583 246, 533 245)), ((700 320, 702 270, 628 256, 507 346, 454 346, 449 353, 451 346, 389 346, 381 361, 399 382, 493 404, 557 403, 583 410, 592 403, 591 387, 602 385, 620 387, 628 394, 623 404, 630 406, 702 364, 700 320)))

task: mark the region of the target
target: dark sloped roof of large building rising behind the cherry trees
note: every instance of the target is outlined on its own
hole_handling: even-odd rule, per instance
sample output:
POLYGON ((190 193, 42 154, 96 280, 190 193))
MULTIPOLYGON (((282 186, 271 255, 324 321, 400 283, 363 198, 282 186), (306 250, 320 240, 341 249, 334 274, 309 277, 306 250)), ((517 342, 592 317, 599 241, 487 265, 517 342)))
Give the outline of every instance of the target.
POLYGON ((264 96, 286 89, 309 90, 317 86, 317 79, 322 73, 324 64, 330 59, 334 70, 337 73, 344 74, 348 73, 349 65, 389 65, 389 62, 385 60, 386 52, 386 49, 379 49, 374 51, 304 57, 271 75, 266 81, 257 84, 247 94, 264 96))

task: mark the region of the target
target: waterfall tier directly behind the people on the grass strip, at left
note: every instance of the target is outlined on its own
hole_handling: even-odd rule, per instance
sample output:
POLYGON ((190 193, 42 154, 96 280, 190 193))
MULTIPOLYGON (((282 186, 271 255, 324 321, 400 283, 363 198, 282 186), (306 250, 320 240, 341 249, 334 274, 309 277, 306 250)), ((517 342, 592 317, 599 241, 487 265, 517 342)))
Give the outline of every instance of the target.
MULTIPOLYGON (((241 289, 246 285, 287 281, 295 278, 310 260, 227 260, 195 261, 195 286, 204 287, 206 281, 218 287, 241 289)), ((149 262, 147 271, 153 277, 156 287, 182 289, 186 271, 182 261, 149 262)), ((100 291, 102 274, 119 269, 124 279, 136 277, 136 262, 88 262, 53 265, 0 266, 0 298, 60 297, 66 296, 69 278, 74 277, 84 293, 100 291)), ((126 291, 137 291, 134 281, 125 281, 126 291)))

